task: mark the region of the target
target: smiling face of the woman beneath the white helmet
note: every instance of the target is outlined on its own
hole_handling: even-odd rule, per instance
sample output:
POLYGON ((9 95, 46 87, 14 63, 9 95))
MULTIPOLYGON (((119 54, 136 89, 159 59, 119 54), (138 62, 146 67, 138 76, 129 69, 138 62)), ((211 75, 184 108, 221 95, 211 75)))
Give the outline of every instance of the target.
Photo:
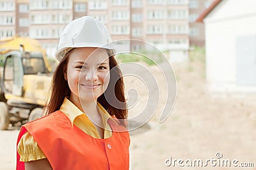
POLYGON ((68 56, 65 79, 73 102, 97 100, 108 87, 109 57, 106 49, 74 48, 68 56))

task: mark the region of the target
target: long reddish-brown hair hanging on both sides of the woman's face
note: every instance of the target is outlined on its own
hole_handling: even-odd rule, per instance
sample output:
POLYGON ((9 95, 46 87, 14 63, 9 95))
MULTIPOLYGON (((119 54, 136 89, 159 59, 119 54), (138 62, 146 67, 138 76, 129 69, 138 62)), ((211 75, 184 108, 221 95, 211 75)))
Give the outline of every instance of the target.
MULTIPOLYGON (((107 50, 109 55, 109 70, 110 70, 110 80, 106 91, 98 97, 97 101, 108 111, 110 115, 115 116, 118 119, 127 118, 127 103, 124 96, 124 81, 122 78, 122 72, 118 67, 118 63, 115 60, 113 53, 107 50), (114 92, 113 92, 114 89, 114 92), (105 94, 111 94, 111 96, 106 96, 105 94), (113 100, 113 99, 118 99, 113 100), (109 101, 111 101, 109 103, 109 101)), ((67 67, 68 52, 61 62, 56 67, 54 74, 52 76, 51 92, 49 94, 49 99, 47 106, 45 106, 44 115, 49 115, 54 111, 60 110, 61 104, 63 103, 66 96, 70 96, 70 88, 68 87, 68 82, 64 78, 65 67, 67 67)), ((121 121, 124 125, 124 122, 121 121)))

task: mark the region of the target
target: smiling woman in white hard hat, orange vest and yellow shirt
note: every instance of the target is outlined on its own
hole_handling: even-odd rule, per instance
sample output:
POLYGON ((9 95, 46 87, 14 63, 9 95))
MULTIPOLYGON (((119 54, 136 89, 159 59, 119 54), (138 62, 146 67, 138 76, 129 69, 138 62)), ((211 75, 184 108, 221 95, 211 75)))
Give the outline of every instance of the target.
POLYGON ((110 42, 92 17, 65 27, 45 117, 20 129, 17 169, 129 169, 124 84, 110 42))

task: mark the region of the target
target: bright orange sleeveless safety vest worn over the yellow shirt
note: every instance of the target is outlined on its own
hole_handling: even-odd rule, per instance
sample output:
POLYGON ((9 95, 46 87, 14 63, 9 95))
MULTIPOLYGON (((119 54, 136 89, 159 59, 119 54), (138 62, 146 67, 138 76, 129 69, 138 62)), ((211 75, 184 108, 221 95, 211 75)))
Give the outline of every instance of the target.
MULTIPOLYGON (((20 138, 27 131, 35 138, 52 169, 129 169, 129 132, 109 119, 111 138, 96 139, 72 124, 61 111, 23 125, 20 138), (124 132, 125 131, 125 132, 124 132)), ((24 169, 17 153, 17 170, 24 169)))

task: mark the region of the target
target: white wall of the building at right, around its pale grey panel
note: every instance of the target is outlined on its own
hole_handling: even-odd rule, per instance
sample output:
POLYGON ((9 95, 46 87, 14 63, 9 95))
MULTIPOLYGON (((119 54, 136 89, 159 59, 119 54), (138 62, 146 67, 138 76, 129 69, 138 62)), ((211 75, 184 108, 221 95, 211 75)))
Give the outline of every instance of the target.
POLYGON ((236 38, 256 35, 255 6, 255 0, 223 0, 205 18, 206 77, 212 88, 236 86, 236 38))

